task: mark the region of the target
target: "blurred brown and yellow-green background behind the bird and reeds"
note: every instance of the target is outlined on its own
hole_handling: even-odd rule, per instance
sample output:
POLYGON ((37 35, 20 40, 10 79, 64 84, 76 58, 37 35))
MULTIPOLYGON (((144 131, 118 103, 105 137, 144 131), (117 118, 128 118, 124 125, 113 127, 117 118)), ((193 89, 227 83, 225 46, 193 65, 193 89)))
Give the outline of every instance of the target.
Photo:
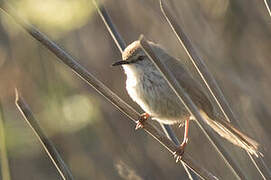
MULTIPOLYGON (((22 17, 142 113, 125 90, 123 70, 111 67, 121 54, 91 1, 10 2, 22 17)), ((144 34, 181 59, 198 78, 157 0, 103 2, 127 44, 144 34)), ((261 144, 270 167, 271 18, 264 2, 170 0, 169 5, 214 74, 242 131, 261 144)), ((2 11, 0 17, 0 120, 6 132, 11 179, 60 179, 15 107, 15 86, 75 179, 188 179, 164 147, 143 130, 135 131, 133 122, 2 11)), ((183 128, 176 127, 182 140, 183 128)), ((221 179, 234 179, 194 122, 190 135, 186 153, 221 179)), ((259 179, 243 150, 218 139, 248 179, 259 179)))

